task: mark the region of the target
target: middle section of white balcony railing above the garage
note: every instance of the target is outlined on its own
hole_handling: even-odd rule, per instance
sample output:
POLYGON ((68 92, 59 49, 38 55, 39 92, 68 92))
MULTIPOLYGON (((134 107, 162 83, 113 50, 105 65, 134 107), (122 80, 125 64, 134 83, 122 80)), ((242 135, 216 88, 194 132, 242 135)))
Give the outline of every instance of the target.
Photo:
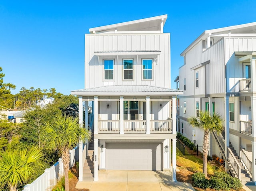
POLYGON ((146 133, 146 120, 124 120, 124 133, 146 133))

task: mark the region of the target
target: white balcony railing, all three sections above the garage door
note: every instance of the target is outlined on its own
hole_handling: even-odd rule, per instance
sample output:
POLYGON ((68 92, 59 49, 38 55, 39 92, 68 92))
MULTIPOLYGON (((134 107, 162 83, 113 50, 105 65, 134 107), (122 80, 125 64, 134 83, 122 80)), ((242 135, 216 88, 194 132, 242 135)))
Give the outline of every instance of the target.
MULTIPOLYGON (((146 134, 146 120, 124 120, 124 134, 146 134)), ((120 133, 120 120, 98 120, 98 133, 120 133)), ((150 134, 172 133, 172 120, 150 120, 150 134)))

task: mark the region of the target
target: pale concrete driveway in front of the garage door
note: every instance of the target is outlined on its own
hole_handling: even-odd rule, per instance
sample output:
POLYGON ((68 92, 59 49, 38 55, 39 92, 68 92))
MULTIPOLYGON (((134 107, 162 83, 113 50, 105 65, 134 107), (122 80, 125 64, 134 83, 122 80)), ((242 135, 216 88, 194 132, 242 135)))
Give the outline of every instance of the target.
POLYGON ((99 171, 99 181, 78 181, 90 191, 194 191, 191 184, 172 182, 170 171, 99 171))

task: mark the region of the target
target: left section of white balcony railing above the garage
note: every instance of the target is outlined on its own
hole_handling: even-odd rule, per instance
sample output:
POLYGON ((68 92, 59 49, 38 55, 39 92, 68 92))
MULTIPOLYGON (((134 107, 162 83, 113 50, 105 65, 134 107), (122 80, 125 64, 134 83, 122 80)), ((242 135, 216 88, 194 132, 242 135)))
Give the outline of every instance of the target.
POLYGON ((119 120, 98 120, 98 132, 120 132, 120 121, 119 120))

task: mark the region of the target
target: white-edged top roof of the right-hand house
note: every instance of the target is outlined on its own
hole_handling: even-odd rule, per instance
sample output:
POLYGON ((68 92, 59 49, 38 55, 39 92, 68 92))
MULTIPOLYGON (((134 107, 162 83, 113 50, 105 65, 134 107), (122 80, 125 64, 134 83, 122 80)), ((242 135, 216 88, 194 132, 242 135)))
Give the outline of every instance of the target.
POLYGON ((195 44, 197 44, 202 39, 206 39, 209 35, 221 35, 221 34, 248 34, 248 33, 255 33, 256 35, 256 22, 217 28, 212 30, 204 31, 196 40, 194 40, 180 55, 184 56, 195 44))

